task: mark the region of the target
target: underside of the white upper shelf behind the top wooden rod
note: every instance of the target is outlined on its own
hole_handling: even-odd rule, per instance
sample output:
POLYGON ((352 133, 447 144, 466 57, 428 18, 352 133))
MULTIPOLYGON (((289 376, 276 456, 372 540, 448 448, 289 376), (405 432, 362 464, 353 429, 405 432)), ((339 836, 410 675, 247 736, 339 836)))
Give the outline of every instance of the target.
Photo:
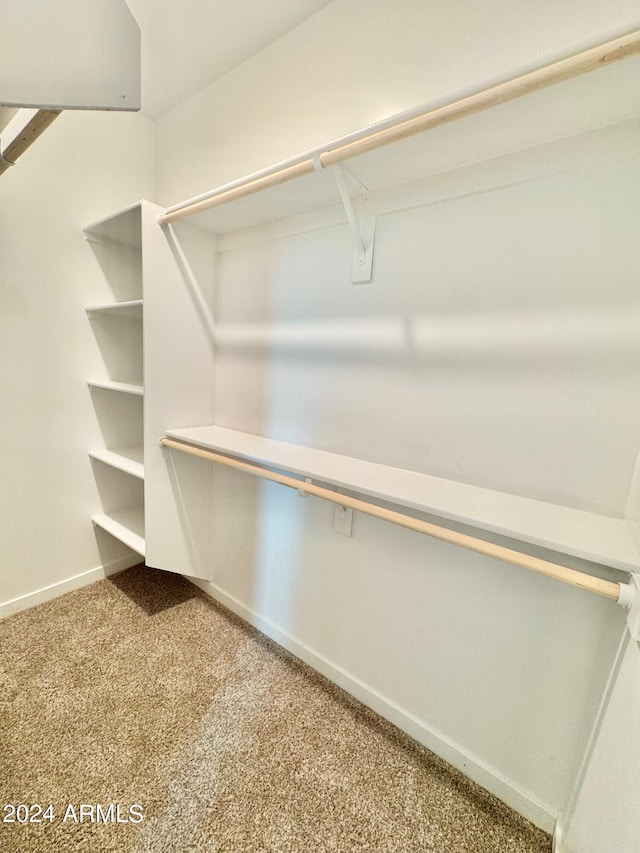
MULTIPOLYGON (((464 95, 457 93, 460 97, 464 95)), ((448 97, 441 103, 451 99, 448 97)), ((439 102, 433 104, 434 107, 438 105, 439 102)), ((345 165, 375 195, 469 164, 638 117, 640 56, 633 56, 360 154, 347 160, 345 165)), ((335 144, 334 141, 326 147, 335 144)), ((329 168, 194 214, 192 221, 209 231, 224 234, 337 205, 339 200, 329 168)))

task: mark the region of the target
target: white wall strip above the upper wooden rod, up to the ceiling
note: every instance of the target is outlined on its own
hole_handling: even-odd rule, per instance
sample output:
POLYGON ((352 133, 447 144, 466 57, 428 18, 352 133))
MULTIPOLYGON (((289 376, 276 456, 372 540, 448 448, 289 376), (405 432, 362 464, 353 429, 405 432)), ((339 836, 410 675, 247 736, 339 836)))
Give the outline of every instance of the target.
POLYGON ((334 0, 159 119, 158 203, 638 28, 635 0, 334 0))

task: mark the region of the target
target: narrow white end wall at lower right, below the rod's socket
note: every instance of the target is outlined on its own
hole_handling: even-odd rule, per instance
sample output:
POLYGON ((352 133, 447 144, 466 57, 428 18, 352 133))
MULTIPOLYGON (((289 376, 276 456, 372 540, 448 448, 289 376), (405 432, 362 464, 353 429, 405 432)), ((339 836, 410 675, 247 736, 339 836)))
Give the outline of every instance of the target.
POLYGON ((627 641, 558 853, 636 853, 640 838, 640 647, 627 641))

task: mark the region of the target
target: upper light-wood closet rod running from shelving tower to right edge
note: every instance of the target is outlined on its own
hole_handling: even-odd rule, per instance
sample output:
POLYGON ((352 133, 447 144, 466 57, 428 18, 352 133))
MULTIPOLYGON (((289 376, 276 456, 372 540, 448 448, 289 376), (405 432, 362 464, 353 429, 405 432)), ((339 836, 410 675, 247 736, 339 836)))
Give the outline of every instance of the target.
POLYGON ((302 155, 299 158, 278 164, 269 169, 249 175, 232 184, 203 193, 180 204, 167 208, 159 217, 162 224, 174 222, 185 216, 192 216, 203 210, 225 204, 260 190, 278 186, 293 178, 311 174, 326 166, 333 166, 358 154, 372 151, 391 142, 406 139, 416 133, 431 130, 439 125, 455 121, 490 107, 504 104, 531 94, 554 83, 570 80, 604 65, 611 65, 621 59, 640 53, 640 31, 628 33, 613 41, 577 53, 566 59, 545 65, 535 71, 521 74, 504 83, 482 89, 465 98, 429 109, 410 118, 396 120, 390 124, 374 125, 368 131, 352 134, 336 140, 325 148, 302 155))

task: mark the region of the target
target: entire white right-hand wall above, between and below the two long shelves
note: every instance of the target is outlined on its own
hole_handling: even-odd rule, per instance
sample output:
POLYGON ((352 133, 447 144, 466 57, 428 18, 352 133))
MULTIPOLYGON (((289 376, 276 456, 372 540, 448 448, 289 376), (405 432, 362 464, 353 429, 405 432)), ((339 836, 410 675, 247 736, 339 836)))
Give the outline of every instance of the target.
MULTIPOLYGON (((630 2, 525 9, 336 0, 158 121, 158 200, 180 201, 639 24, 630 2)), ((621 277, 612 281, 598 241, 616 203, 614 187, 635 180, 636 167, 587 173, 590 201, 586 215, 574 217, 564 260, 563 222, 585 203, 579 177, 384 217, 370 286, 349 283, 344 226, 223 253, 219 330, 279 324, 284 343, 219 348, 217 422, 621 513, 639 413, 634 405, 622 432, 610 429, 608 413, 628 400, 633 377, 627 372, 618 383, 619 354, 604 364, 590 354, 589 328, 613 311, 601 343, 615 352, 637 264, 633 241, 618 239, 613 228, 624 250, 621 277), (557 218, 544 221, 547 213, 557 218), (519 216, 542 216, 540 233, 525 239, 519 216), (526 269, 499 236, 505 228, 526 250, 526 269), (409 244, 407 233, 415 237, 409 244), (552 274, 536 239, 553 247, 552 274), (430 273, 432 256, 437 274, 430 273), (403 257, 413 273, 405 261, 395 281, 403 257), (620 292, 603 301, 610 287, 620 292), (385 362, 376 322, 417 314, 427 324, 443 320, 442 352, 419 364, 415 353, 385 362), (532 314, 553 330, 555 349, 541 362, 536 346, 523 358, 519 331, 526 337, 532 314), (368 356, 322 346, 323 335, 340 336, 345 318, 369 324, 368 356), (467 349, 461 358, 460 321, 469 329, 482 318, 492 324, 495 351, 478 357, 467 349), (577 359, 571 350, 565 360, 554 337, 567 320, 581 329, 577 359), (296 324, 311 330, 305 346, 287 345, 296 324), (590 464, 602 452, 606 464, 590 464)), ((624 214, 615 216, 628 227, 624 214)), ((216 482, 219 548, 207 588, 550 829, 566 804, 613 655, 615 606, 370 519, 358 517, 345 539, 331 531, 331 510, 313 499, 234 474, 217 472, 216 482)))

